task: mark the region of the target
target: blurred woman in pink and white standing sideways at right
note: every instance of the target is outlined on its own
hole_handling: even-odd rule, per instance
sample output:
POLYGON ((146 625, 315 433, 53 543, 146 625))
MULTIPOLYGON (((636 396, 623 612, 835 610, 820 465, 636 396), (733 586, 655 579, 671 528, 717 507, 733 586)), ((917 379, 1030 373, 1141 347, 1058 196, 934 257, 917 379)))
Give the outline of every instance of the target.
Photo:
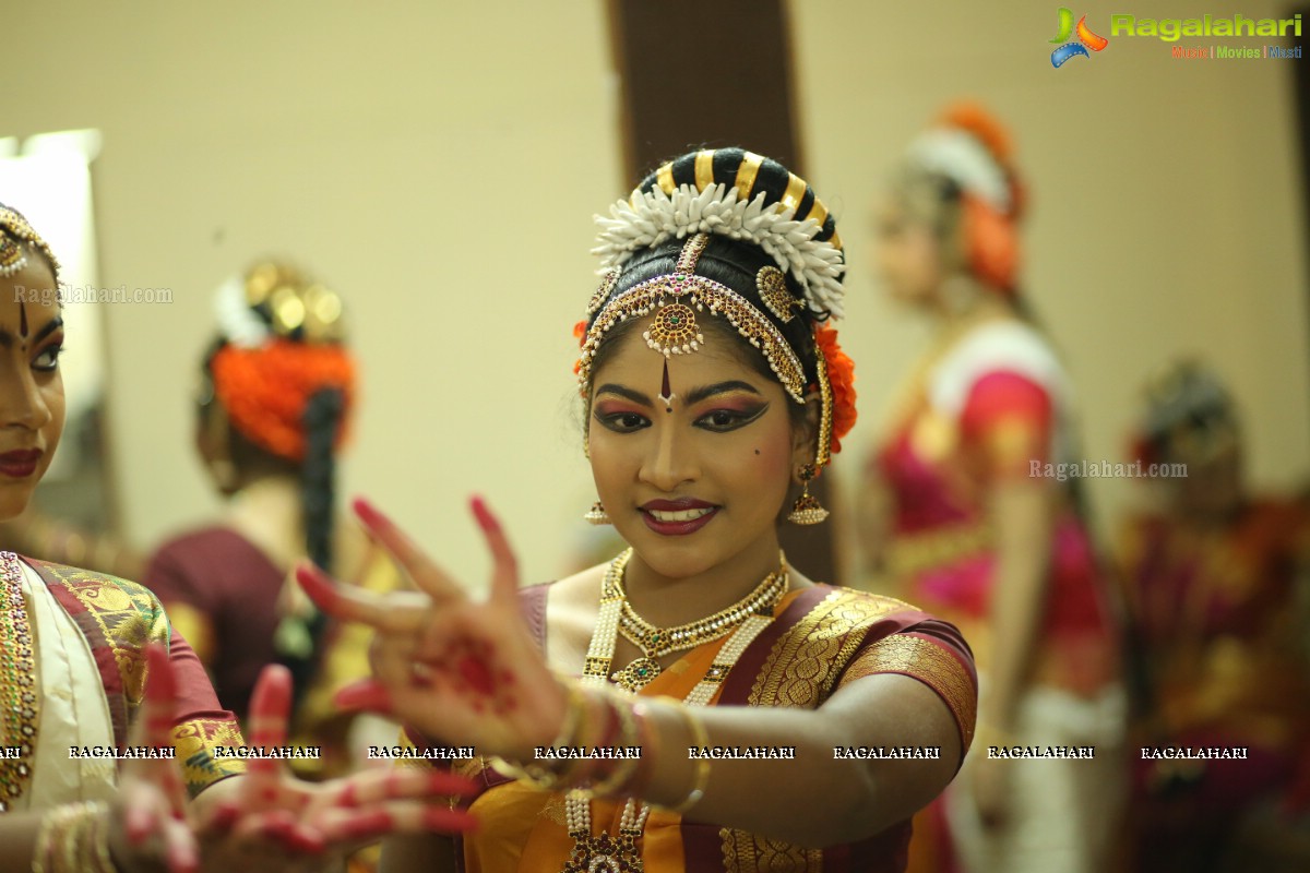
POLYGON ((1073 410, 1018 288, 1023 207, 1006 132, 960 105, 912 144, 880 212, 883 281, 937 340, 869 461, 861 541, 872 585, 964 631, 981 683, 973 753, 916 822, 917 869, 1098 870, 1120 806, 1102 575, 1079 501, 1040 475, 1073 459, 1073 410), (986 759, 1015 745, 1096 753, 986 759))

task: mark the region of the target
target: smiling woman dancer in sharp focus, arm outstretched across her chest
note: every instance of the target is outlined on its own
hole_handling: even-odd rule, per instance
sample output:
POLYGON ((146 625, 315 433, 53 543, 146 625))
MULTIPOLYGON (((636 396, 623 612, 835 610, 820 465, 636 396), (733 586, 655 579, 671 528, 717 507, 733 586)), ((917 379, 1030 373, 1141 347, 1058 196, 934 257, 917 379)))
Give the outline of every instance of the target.
POLYGON ((587 516, 629 547, 520 593, 476 500, 495 571, 474 599, 362 501, 422 593, 301 575, 325 610, 379 630, 376 679, 343 703, 402 717, 418 749, 481 755, 461 767, 482 828, 390 842, 384 869, 900 870, 910 814, 968 747, 976 690, 950 624, 811 581, 778 548, 781 524, 827 517, 807 484, 854 421, 828 323, 833 219, 732 148, 665 164, 600 225, 604 277, 576 329, 587 516))

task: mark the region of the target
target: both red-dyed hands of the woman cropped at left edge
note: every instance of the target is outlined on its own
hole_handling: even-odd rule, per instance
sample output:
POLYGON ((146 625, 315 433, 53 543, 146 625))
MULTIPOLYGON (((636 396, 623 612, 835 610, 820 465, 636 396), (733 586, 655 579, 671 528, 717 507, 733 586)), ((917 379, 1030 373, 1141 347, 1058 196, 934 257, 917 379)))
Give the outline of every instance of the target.
MULTIPOLYGON (((170 746, 172 665, 161 648, 151 647, 147 666, 149 682, 134 745, 170 746)), ((282 666, 265 668, 250 702, 250 745, 284 745, 290 708, 291 674, 282 666)), ((252 759, 245 776, 210 789, 221 800, 204 804, 202 794, 189 806, 177 762, 131 760, 121 788, 122 826, 111 828, 110 851, 123 870, 231 873, 233 864, 246 870, 314 870, 333 863, 329 853, 386 834, 470 830, 473 817, 449 809, 448 797, 472 789, 466 779, 417 768, 305 783, 276 759, 252 759)))

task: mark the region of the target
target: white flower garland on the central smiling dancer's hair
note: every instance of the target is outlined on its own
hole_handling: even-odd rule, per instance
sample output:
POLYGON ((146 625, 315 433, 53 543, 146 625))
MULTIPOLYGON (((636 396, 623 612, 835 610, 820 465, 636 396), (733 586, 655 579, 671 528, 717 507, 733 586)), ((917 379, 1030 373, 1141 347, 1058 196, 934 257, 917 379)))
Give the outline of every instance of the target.
POLYGON ((841 274, 846 270, 841 250, 815 240, 823 229, 817 221, 795 221, 795 209, 779 203, 765 205, 765 199, 760 192, 751 202, 740 200, 736 187, 722 183, 703 191, 683 185, 672 195, 662 188, 645 191, 635 205, 620 200, 609 208, 610 217, 596 216, 600 233, 591 251, 600 255, 603 270, 609 270, 621 267, 634 251, 669 238, 719 233, 744 240, 764 249, 795 277, 811 310, 841 318, 841 274))

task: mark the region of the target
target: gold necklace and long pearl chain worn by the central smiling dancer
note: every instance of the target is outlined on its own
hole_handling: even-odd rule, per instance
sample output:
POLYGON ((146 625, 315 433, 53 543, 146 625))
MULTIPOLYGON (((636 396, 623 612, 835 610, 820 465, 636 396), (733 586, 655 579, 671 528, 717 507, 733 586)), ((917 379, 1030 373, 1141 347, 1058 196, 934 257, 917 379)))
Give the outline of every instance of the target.
MULTIPOLYGON (((610 561, 609 569, 605 571, 600 594, 600 615, 596 620, 596 630, 592 632, 583 669, 583 687, 601 688, 605 686, 621 626, 625 628, 625 639, 637 644, 646 653, 645 657, 613 674, 620 687, 629 692, 641 690, 659 675, 659 664, 654 661, 656 656, 684 652, 701 643, 718 640, 731 633, 732 636, 719 649, 705 677, 686 695, 688 705, 707 705, 747 647, 773 620, 773 610, 790 584, 786 558, 779 554, 781 567, 778 571, 769 573, 745 599, 709 618, 662 631, 646 622, 627 603, 627 597, 624 593, 624 569, 631 555, 633 550, 629 548, 610 561), (629 636, 626 630, 629 626, 631 626, 634 635, 639 635, 639 639, 629 636), (677 633, 676 641, 675 632, 677 633), (642 640, 646 641, 645 645, 642 640), (654 668, 654 673, 650 675, 639 673, 646 666, 642 664, 645 661, 648 661, 654 668)), ((590 794, 580 789, 570 791, 565 800, 565 822, 569 827, 569 835, 574 839, 574 848, 562 873, 641 873, 643 864, 637 840, 641 839, 642 831, 646 828, 650 811, 650 804, 638 804, 629 798, 624 804, 624 813, 618 819, 618 834, 610 835, 605 831, 600 836, 592 836, 590 794)))

